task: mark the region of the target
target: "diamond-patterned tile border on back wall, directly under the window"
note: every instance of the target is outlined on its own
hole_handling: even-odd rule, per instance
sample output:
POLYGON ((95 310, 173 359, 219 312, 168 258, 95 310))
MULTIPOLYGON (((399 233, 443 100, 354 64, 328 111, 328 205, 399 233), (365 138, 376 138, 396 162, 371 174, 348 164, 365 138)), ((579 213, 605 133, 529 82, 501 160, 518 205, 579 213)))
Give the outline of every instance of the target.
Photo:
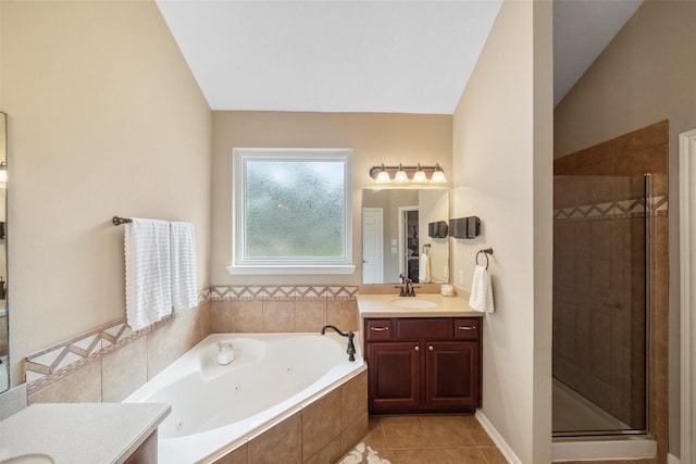
POLYGON ((326 286, 221 286, 211 288, 211 300, 344 299, 356 298, 358 287, 326 286))

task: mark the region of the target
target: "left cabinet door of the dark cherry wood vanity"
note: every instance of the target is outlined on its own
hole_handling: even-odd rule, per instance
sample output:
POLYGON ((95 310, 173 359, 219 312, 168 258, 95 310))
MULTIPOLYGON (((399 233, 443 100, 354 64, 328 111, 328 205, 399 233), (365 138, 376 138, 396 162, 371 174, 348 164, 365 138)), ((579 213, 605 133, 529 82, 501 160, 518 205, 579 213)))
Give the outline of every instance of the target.
POLYGON ((409 410, 420 404, 421 346, 418 342, 368 343, 370 411, 409 410))

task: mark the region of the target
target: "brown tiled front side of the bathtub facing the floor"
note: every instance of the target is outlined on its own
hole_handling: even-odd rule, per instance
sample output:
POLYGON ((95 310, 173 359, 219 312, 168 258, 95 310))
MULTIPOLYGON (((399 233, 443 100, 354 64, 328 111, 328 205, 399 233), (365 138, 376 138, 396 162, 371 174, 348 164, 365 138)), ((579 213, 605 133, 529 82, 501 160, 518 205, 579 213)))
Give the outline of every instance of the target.
POLYGON ((363 371, 214 462, 335 463, 368 434, 368 373, 363 371))

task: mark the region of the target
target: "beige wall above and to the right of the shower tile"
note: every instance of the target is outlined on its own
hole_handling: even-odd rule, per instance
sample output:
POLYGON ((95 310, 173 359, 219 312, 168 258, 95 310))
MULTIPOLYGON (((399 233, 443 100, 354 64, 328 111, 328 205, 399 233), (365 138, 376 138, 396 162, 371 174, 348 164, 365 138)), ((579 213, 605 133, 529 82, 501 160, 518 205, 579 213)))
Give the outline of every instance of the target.
POLYGON ((646 1, 555 112, 555 156, 669 120, 670 447, 679 455, 679 134, 696 128, 696 2, 646 1))

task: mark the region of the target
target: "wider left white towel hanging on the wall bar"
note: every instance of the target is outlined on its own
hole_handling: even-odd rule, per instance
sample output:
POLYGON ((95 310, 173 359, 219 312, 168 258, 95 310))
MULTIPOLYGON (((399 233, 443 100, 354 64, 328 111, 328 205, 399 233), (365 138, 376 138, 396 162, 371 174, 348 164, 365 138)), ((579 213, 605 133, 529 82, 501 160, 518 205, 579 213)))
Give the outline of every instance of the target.
POLYGON ((138 220, 126 224, 126 319, 142 329, 172 313, 170 223, 138 220))

